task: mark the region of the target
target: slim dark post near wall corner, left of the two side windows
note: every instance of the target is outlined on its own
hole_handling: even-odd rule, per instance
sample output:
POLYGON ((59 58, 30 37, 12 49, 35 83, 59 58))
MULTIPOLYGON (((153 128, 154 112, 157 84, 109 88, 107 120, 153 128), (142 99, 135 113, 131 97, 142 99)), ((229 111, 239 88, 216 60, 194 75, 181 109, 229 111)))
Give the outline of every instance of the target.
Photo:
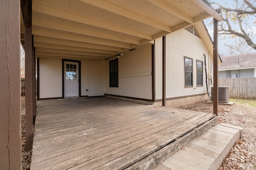
POLYGON ((166 36, 163 36, 163 87, 162 87, 162 106, 166 106, 166 36))

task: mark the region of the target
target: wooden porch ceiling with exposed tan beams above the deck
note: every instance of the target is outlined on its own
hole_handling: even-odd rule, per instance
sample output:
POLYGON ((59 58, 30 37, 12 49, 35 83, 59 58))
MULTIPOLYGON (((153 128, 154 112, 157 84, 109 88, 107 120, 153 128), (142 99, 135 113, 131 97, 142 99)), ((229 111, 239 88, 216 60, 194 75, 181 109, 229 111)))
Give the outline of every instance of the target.
POLYGON ((204 0, 33 0, 35 55, 109 59, 209 17, 204 0))

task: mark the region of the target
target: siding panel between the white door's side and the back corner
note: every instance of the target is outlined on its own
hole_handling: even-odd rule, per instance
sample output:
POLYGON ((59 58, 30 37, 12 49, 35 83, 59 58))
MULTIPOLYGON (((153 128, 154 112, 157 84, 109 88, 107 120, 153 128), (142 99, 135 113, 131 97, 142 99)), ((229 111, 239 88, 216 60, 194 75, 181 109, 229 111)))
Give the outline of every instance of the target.
POLYGON ((88 96, 104 96, 106 92, 105 61, 88 61, 88 96))

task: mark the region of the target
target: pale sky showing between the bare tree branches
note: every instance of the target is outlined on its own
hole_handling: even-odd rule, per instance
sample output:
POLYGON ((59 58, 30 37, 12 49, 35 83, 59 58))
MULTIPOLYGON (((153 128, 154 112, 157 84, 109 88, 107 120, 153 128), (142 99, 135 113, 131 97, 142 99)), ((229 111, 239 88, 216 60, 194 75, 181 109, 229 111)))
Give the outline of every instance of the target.
MULTIPOLYGON (((216 2, 218 4, 222 4, 222 6, 225 6, 227 8, 234 8, 234 0, 208 0, 209 2, 216 2)), ((242 0, 239 0, 242 2, 242 0)), ((212 6, 214 8, 217 8, 218 6, 216 6, 215 4, 212 4, 212 6)), ((213 38, 213 25, 210 24, 212 18, 208 19, 208 20, 204 20, 206 27, 208 28, 208 31, 211 35, 211 37, 213 38)), ((256 24, 254 23, 254 21, 256 20, 256 18, 252 18, 252 20, 248 20, 249 21, 249 25, 251 27, 254 28, 254 34, 256 34, 256 24)), ((238 25, 234 25, 234 28, 239 29, 238 25)), ((256 41, 256 39, 254 39, 254 42, 256 41)), ((224 43, 229 43, 232 44, 234 42, 234 39, 229 38, 229 36, 226 36, 224 38, 223 35, 220 35, 218 38, 218 51, 220 55, 224 55, 224 56, 230 56, 229 55, 229 49, 228 47, 226 47, 224 45, 224 43)), ((256 52, 256 50, 252 49, 251 53, 256 52)))

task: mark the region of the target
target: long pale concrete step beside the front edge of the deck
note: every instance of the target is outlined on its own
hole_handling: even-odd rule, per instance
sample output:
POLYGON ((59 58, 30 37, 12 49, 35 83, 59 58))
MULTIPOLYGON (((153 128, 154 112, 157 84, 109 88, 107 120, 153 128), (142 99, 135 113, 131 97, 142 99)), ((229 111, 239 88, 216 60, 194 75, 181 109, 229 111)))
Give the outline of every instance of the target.
POLYGON ((221 123, 159 164, 155 170, 218 170, 243 128, 221 123))

